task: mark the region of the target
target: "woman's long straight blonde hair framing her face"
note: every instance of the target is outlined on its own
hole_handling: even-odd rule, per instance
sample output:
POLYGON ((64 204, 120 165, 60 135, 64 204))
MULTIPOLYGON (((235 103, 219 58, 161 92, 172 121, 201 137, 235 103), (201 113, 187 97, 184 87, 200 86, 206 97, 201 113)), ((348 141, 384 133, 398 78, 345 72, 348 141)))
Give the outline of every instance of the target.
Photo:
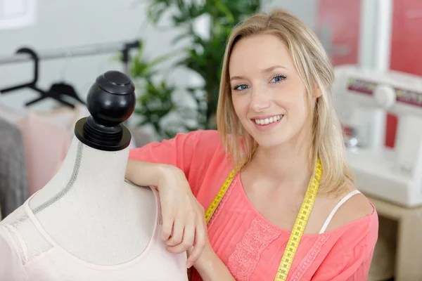
MULTIPOLYGON (((236 116, 231 100, 229 59, 234 44, 242 38, 255 34, 273 34, 287 46, 295 67, 308 92, 312 121, 312 151, 309 162, 321 159, 323 175, 320 192, 341 192, 347 180, 353 183, 354 176, 345 157, 343 133, 333 105, 333 67, 319 39, 295 15, 276 9, 271 13, 258 13, 241 22, 231 32, 226 45, 222 78, 217 106, 217 129, 226 152, 236 165, 250 162, 257 143, 243 128, 236 116), (314 89, 321 96, 312 105, 314 89)), ((312 166, 313 169, 314 166, 312 166)))

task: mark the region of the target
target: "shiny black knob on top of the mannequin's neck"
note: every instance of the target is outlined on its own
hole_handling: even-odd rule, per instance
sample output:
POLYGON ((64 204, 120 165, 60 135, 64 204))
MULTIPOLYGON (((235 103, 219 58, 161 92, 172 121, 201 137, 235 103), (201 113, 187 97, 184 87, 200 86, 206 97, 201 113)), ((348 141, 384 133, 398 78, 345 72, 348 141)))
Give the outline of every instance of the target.
POLYGON ((134 112, 135 86, 126 74, 108 71, 97 77, 87 95, 89 117, 80 119, 75 135, 99 150, 127 148, 131 135, 123 122, 134 112))

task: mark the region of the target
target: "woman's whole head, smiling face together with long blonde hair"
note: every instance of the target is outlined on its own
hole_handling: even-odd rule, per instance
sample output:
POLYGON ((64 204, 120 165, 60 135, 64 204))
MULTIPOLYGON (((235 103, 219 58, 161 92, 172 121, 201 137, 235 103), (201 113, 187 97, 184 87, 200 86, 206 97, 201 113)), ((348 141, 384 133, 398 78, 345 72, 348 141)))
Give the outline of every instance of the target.
POLYGON ((276 9, 241 22, 227 40, 217 106, 219 136, 234 164, 245 166, 262 150, 264 157, 302 153, 329 167, 321 192, 353 181, 333 83, 324 46, 292 13, 276 9))

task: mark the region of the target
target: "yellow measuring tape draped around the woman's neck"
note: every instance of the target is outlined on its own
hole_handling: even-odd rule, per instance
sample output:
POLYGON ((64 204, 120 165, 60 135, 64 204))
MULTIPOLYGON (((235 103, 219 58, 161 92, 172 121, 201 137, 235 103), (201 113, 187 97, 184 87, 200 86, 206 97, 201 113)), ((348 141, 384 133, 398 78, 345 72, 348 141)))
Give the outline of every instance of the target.
MULTIPOLYGON (((217 209, 219 203, 222 201, 224 195, 226 194, 227 189, 231 185, 234 177, 236 176, 238 169, 233 169, 229 176, 224 181, 222 187, 220 188, 217 196, 214 198, 210 207, 208 207, 207 211, 205 211, 205 221, 208 223, 212 214, 214 214, 215 210, 217 209)), ((316 159, 316 166, 314 171, 314 178, 309 181, 309 185, 307 188, 307 192, 305 198, 302 202, 302 206, 300 207, 300 211, 298 217, 296 218, 295 224, 293 226, 293 230, 290 234, 286 249, 284 250, 283 257, 281 258, 281 263, 279 266, 279 270, 277 270, 276 277, 274 281, 282 281, 287 280, 288 271, 290 270, 290 266, 292 265, 293 258, 295 257, 296 251, 299 247, 300 239, 302 238, 303 231, 305 230, 306 223, 309 219, 309 215, 311 214, 312 207, 314 207, 315 197, 318 193, 319 182, 321 181, 322 176, 322 164, 319 157, 316 159)), ((190 280, 190 270, 188 270, 189 280, 190 280)))

